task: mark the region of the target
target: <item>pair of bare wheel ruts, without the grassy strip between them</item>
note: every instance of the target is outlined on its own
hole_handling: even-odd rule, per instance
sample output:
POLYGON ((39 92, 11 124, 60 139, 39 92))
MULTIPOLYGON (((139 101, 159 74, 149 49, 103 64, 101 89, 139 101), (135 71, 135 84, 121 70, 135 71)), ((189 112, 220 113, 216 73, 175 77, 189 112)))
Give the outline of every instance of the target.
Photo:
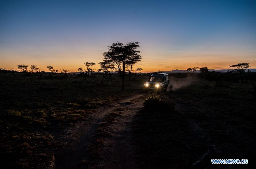
POLYGON ((120 139, 127 140, 127 137, 121 133, 129 129, 129 124, 126 123, 126 121, 131 121, 131 118, 137 109, 142 106, 144 101, 143 98, 146 98, 146 95, 139 94, 127 99, 123 99, 119 103, 111 104, 108 107, 100 108, 96 113, 91 115, 89 121, 83 121, 77 127, 70 129, 68 133, 73 134, 67 136, 68 142, 63 145, 61 150, 55 152, 55 168, 84 168, 88 166, 90 166, 90 168, 95 168, 100 166, 100 164, 104 164, 104 156, 101 156, 102 158, 100 158, 100 161, 98 161, 97 164, 92 163, 92 155, 88 149, 91 145, 94 144, 94 142, 92 142, 92 137, 96 134, 96 129, 98 128, 99 124, 104 122, 104 118, 108 114, 115 112, 116 110, 120 110, 122 115, 117 117, 117 123, 115 123, 112 128, 110 127, 109 132, 113 134, 114 139, 112 142, 107 143, 109 148, 104 149, 103 152, 104 155, 105 153, 111 155, 110 152, 114 152, 112 154, 114 159, 113 161, 119 161, 119 163, 123 163, 122 160, 125 157, 121 157, 122 160, 118 160, 116 158, 118 154, 121 154, 118 153, 120 147, 119 143, 122 143, 120 139), (135 100, 139 101, 137 101, 136 104, 132 104, 135 100))

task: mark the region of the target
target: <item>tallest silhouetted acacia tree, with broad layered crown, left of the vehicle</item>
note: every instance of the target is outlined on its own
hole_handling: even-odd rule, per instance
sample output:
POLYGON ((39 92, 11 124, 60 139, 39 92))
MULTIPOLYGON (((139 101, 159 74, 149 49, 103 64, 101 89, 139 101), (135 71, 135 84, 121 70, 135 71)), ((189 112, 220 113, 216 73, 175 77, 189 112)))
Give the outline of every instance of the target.
POLYGON ((111 46, 108 46, 108 52, 105 52, 104 61, 110 61, 117 66, 119 74, 122 78, 122 90, 124 90, 124 78, 125 78, 125 68, 129 61, 134 63, 141 61, 139 42, 127 42, 126 44, 117 42, 113 43, 111 46))

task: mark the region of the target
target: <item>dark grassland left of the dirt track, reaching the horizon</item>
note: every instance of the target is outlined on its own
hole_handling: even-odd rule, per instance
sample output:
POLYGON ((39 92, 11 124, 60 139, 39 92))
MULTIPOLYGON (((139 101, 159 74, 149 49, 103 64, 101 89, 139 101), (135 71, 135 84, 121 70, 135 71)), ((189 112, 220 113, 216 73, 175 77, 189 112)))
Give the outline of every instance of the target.
POLYGON ((38 168, 52 165, 51 152, 62 144, 68 128, 89 120, 96 108, 142 92, 147 77, 126 79, 125 91, 121 79, 101 75, 84 80, 0 73, 0 79, 1 167, 38 168))

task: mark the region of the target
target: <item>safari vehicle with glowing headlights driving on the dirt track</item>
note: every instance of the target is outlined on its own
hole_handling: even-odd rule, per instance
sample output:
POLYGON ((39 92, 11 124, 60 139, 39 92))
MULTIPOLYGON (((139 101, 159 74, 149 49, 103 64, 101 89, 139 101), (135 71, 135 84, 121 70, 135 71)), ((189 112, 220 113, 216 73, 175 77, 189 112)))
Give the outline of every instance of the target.
POLYGON ((167 73, 154 72, 150 75, 148 82, 144 84, 144 90, 148 92, 148 90, 153 89, 162 92, 166 91, 168 84, 169 79, 167 73))

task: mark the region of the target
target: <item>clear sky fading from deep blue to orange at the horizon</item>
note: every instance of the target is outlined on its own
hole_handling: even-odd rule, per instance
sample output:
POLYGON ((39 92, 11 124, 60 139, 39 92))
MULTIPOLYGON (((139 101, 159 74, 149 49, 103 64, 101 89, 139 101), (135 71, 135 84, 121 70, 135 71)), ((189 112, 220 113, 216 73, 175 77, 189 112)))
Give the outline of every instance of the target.
POLYGON ((249 62, 255 1, 1 1, 0 67, 75 72, 113 42, 140 42, 143 72, 249 62))

